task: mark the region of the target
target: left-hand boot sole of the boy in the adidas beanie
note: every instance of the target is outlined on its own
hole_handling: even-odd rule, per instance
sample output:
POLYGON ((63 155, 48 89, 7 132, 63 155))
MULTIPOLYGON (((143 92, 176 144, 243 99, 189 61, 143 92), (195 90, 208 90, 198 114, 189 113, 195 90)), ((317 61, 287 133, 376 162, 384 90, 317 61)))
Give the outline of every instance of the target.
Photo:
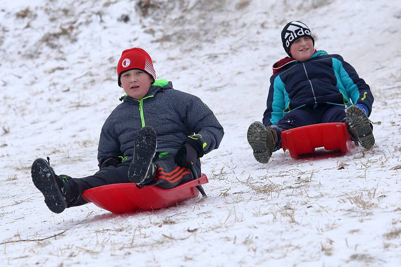
POLYGON ((272 153, 267 149, 266 145, 267 130, 265 125, 255 121, 249 125, 247 132, 247 139, 252 149, 254 150, 254 157, 260 163, 269 162, 272 153))

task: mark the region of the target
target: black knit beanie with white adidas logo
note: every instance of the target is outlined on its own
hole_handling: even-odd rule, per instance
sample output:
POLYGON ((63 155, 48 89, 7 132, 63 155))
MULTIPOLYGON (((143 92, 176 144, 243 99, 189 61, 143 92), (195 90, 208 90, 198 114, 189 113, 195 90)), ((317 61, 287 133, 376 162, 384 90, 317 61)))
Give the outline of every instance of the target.
POLYGON ((287 25, 284 26, 283 30, 281 31, 281 41, 283 42, 283 47, 286 53, 291 56, 290 54, 290 46, 291 44, 301 37, 308 36, 313 41, 313 46, 315 45, 315 39, 312 36, 312 32, 308 28, 307 25, 302 23, 301 21, 291 21, 288 22, 287 25))

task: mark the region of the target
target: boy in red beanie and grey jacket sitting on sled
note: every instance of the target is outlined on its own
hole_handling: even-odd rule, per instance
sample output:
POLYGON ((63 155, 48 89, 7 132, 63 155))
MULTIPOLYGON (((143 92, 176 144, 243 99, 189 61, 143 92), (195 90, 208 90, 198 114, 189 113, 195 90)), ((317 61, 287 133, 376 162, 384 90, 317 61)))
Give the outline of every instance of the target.
POLYGON ((189 168, 200 174, 199 158, 219 147, 224 131, 213 112, 198 97, 173 89, 171 81, 156 80, 145 50, 122 52, 117 83, 126 95, 103 124, 99 171, 72 178, 56 175, 43 158, 32 164, 33 182, 55 213, 85 204, 82 193, 105 184, 175 187, 192 179, 189 168))

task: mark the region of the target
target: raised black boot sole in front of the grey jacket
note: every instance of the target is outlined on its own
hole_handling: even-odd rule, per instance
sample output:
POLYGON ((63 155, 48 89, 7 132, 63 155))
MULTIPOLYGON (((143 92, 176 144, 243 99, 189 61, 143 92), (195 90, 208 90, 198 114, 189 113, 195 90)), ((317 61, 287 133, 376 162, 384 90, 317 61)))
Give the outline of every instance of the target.
POLYGON ((150 126, 139 130, 135 140, 134 154, 128 169, 128 179, 133 183, 143 183, 151 171, 151 164, 156 153, 156 132, 150 126))

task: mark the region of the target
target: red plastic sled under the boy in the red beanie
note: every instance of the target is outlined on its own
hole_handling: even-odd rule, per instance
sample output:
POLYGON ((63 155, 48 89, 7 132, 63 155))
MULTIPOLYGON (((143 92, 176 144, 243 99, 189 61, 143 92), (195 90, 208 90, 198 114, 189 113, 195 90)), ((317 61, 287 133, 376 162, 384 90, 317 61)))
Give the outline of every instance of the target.
POLYGON ((202 173, 199 178, 171 189, 158 186, 145 186, 139 189, 134 183, 115 183, 85 190, 82 197, 113 213, 153 210, 173 206, 197 196, 199 190, 195 186, 208 182, 208 177, 202 173))

